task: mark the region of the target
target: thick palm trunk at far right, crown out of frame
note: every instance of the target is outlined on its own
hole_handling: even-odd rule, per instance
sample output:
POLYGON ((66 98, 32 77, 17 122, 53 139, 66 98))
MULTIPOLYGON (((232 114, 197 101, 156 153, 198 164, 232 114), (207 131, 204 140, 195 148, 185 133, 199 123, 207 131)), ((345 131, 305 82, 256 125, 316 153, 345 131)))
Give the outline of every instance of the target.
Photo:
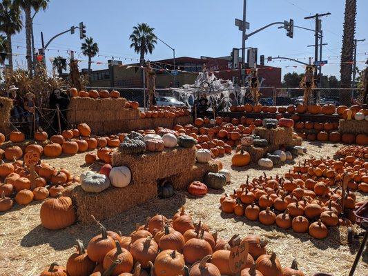
MULTIPOLYGON (((344 33, 342 34, 341 49, 341 87, 350 88, 353 66, 351 61, 354 54, 354 34, 356 30, 356 0, 345 0, 344 33)), ((345 90, 340 94, 340 103, 349 105, 350 91, 345 90)))

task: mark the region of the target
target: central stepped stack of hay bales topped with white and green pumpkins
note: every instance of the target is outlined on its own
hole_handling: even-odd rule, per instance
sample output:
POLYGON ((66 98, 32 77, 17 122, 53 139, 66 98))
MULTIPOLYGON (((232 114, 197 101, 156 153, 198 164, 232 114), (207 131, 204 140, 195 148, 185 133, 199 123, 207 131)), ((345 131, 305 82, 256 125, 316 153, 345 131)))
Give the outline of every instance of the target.
POLYGON ((79 221, 93 223, 107 219, 124 210, 157 197, 157 181, 168 179, 175 189, 186 188, 191 181, 202 180, 204 175, 219 170, 216 164, 195 164, 195 148, 173 148, 162 152, 144 152, 140 155, 113 154, 113 166, 127 166, 132 175, 124 188, 110 187, 101 193, 86 193, 80 185, 69 186, 64 195, 72 197, 79 221))

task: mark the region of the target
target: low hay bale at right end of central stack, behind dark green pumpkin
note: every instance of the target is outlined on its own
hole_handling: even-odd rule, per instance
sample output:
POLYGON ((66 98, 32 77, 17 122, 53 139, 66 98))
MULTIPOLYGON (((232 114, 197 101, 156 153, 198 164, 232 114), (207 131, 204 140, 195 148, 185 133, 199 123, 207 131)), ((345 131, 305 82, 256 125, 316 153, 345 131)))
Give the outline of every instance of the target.
POLYGON ((177 175, 173 175, 168 180, 171 181, 175 190, 181 190, 186 188, 186 186, 191 184, 193 181, 203 182, 204 175, 206 175, 207 172, 218 171, 218 164, 213 161, 209 161, 209 163, 195 163, 191 169, 185 170, 177 175))

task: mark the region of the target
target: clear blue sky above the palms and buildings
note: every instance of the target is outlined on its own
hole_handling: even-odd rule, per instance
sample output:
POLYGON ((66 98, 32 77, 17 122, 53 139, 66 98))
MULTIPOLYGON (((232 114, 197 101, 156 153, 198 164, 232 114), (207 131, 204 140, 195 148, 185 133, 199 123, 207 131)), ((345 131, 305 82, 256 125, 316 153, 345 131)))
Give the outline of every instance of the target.
MULTIPOLYGON (((324 42, 324 59, 329 58, 329 65, 322 68, 325 75, 340 76, 339 64, 342 36, 342 22, 345 1, 343 0, 248 0, 246 21, 251 23, 249 31, 258 29, 274 21, 294 20, 294 24, 305 28, 314 28, 313 19, 304 17, 316 12, 331 12, 329 17, 322 18, 324 42), (332 57, 332 58, 331 58, 332 57)), ((356 17, 356 39, 367 39, 358 44, 358 61, 368 58, 368 1, 358 0, 356 17)), ((233 47, 241 47, 241 32, 234 26, 235 17, 242 19, 242 0, 51 0, 46 12, 39 12, 35 17, 36 48, 41 47, 40 31, 48 41, 57 32, 67 30, 70 26, 78 26, 80 21, 86 25, 87 35, 92 36, 99 44, 100 57, 95 61, 106 62, 115 57, 123 63, 131 63, 137 54, 130 49, 128 37, 132 27, 146 22, 153 28, 157 37, 173 46, 177 57, 222 57, 229 55, 233 47), (107 58, 106 58, 106 57, 107 58)), ((25 32, 13 37, 13 52, 26 53, 25 32), (19 48, 17 48, 19 46, 19 48)), ((313 48, 307 45, 314 43, 313 32, 294 30, 294 38, 286 36, 286 30, 277 26, 268 28, 246 41, 246 46, 257 47, 258 55, 284 56, 308 61, 313 57, 313 48)), ((81 40, 79 32, 64 34, 53 41, 46 52, 46 57, 61 55, 68 57, 66 50, 77 51, 78 59, 86 59, 79 55, 81 40), (59 52, 57 52, 59 50, 59 52)), ((172 57, 172 51, 163 43, 157 43, 153 55, 148 59, 166 59, 172 57)), ((23 57, 14 60, 24 66, 23 57)), ((266 63, 282 68, 282 75, 287 72, 303 72, 304 68, 293 61, 275 61, 266 63), (291 67, 286 67, 291 66, 291 67)), ((364 68, 364 63, 358 63, 364 68)), ((86 68, 87 63, 81 63, 86 68)), ((50 68, 50 65, 49 65, 50 68)), ((106 65, 94 65, 94 69, 106 68, 106 65)))

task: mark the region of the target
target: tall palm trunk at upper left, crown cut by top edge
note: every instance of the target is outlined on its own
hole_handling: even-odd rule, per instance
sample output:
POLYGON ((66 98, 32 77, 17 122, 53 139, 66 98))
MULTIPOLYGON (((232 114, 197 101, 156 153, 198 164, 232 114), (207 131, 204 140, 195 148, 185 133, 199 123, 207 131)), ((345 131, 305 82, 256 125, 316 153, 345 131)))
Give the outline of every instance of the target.
POLYGON ((28 72, 32 75, 32 35, 33 35, 33 17, 39 10, 46 10, 50 0, 15 0, 26 14, 26 46, 27 46, 27 67, 28 72), (31 16, 32 9, 35 10, 33 17, 31 16))

